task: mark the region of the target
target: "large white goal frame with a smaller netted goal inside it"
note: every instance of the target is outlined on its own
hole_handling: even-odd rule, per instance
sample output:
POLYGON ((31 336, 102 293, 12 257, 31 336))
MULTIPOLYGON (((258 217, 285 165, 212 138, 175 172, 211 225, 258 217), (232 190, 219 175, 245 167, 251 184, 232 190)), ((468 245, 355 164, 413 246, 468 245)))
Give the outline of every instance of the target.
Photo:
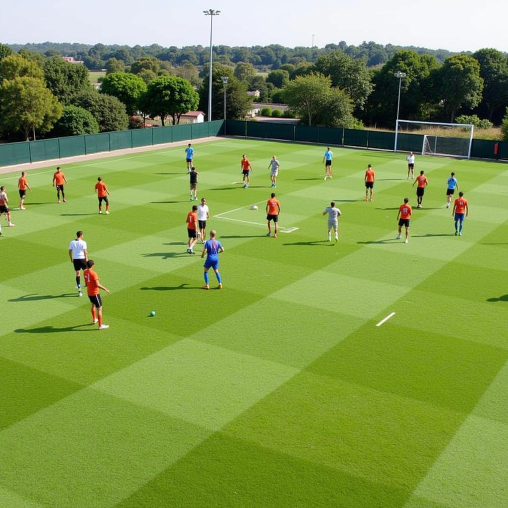
MULTIPOLYGON (((395 124, 395 143, 397 151, 399 123, 413 125, 423 134, 422 155, 442 155, 444 157, 471 157, 474 125, 472 123, 421 122, 417 120, 397 120, 395 124), (427 133, 425 132, 427 131, 427 133), (454 133, 452 134, 452 132, 454 133), (459 136, 455 135, 459 131, 459 136)), ((413 134, 417 134, 414 132, 413 134)))

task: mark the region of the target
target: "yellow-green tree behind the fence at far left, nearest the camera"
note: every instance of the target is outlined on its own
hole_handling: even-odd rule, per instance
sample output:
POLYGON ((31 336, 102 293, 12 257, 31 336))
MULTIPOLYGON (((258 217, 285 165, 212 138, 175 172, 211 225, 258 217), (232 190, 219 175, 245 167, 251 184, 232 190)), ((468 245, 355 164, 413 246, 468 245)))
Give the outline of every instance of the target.
POLYGON ((22 76, 4 79, 0 86, 0 113, 4 130, 21 131, 28 141, 36 130, 46 133, 58 120, 62 107, 42 79, 22 76))

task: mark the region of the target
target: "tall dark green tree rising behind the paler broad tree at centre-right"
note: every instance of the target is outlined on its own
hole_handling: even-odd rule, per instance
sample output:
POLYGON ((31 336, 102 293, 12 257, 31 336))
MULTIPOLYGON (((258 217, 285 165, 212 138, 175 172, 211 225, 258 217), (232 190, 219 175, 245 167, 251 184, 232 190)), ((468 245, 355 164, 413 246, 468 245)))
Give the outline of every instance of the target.
POLYGON ((330 76, 332 86, 345 90, 357 108, 364 107, 373 89, 364 60, 353 59, 341 51, 334 51, 320 56, 314 67, 324 76, 330 76))

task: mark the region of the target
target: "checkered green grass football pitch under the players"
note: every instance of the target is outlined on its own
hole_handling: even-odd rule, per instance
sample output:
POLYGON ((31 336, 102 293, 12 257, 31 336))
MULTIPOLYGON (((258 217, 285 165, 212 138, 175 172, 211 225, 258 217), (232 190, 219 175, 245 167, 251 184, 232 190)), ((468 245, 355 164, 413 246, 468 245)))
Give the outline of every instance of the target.
MULTIPOLYGON (((14 228, 2 217, 0 506, 505 507, 508 167, 417 156, 420 210, 405 154, 332 147, 324 181, 323 146, 193 146, 223 290, 212 271, 201 289, 201 244, 186 252, 199 202, 183 146, 62 164, 62 204, 54 166, 28 170, 27 209, 14 228), (469 201, 460 237, 451 171, 469 201), (395 239, 406 196, 408 244, 395 239), (108 330, 74 289, 77 230, 111 291, 108 330)), ((20 171, 0 175, 11 208, 20 171)))

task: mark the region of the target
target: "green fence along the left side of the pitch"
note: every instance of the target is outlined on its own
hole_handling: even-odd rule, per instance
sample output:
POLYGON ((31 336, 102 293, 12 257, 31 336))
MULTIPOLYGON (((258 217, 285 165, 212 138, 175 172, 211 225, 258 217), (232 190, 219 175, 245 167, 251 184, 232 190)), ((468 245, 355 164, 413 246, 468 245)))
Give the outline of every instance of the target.
POLYGON ((159 145, 224 134, 224 120, 0 144, 0 166, 159 145))

